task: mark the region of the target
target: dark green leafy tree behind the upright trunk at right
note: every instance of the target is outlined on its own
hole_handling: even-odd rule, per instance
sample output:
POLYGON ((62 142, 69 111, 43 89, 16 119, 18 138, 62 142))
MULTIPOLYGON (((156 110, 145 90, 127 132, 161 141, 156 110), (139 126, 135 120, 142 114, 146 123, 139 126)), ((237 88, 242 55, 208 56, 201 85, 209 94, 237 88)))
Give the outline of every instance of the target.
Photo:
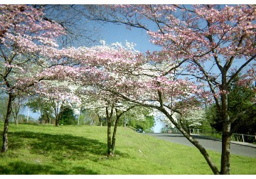
MULTIPOLYGON (((256 133, 256 107, 251 107, 255 100, 255 87, 244 87, 238 84, 236 79, 231 85, 228 94, 228 114, 236 119, 231 125, 231 131, 237 134, 256 133), (247 109, 251 108, 249 111, 247 109), (246 111, 246 113, 242 113, 246 111)), ((223 121, 215 104, 208 107, 206 119, 210 121, 216 131, 222 131, 223 121)))

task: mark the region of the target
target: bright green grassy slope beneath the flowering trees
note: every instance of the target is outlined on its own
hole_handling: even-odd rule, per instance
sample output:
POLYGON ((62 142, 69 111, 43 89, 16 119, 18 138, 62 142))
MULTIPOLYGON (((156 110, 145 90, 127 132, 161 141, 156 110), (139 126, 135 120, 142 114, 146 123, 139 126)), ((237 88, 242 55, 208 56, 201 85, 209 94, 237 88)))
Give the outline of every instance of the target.
MULTIPOLYGON (((0 123, 0 134, 3 129, 0 123)), ((114 158, 107 158, 107 128, 10 125, 9 151, 0 174, 212 174, 196 148, 117 129, 114 158)), ((220 153, 209 151, 215 163, 220 153)), ((256 158, 231 156, 231 174, 256 174, 256 158)))

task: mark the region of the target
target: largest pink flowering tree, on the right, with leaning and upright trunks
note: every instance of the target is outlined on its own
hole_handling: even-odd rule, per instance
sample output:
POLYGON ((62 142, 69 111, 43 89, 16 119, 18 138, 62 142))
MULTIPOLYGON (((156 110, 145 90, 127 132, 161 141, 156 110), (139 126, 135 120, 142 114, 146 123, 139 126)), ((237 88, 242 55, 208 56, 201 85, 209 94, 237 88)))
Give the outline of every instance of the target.
MULTIPOLYGON (((123 23, 128 28, 142 28, 149 35, 151 43, 161 47, 162 50, 159 52, 147 53, 152 65, 161 63, 166 58, 170 59, 166 69, 160 70, 161 75, 154 85, 149 83, 151 89, 154 87, 158 92, 158 99, 153 98, 151 102, 159 102, 160 105, 154 107, 166 114, 171 121, 172 117, 164 107, 166 102, 173 99, 170 97, 166 102, 162 99, 169 94, 174 94, 175 97, 181 91, 184 92, 184 89, 188 92, 192 90, 193 93, 201 82, 206 85, 209 90, 201 93, 202 97, 209 101, 213 99, 223 121, 220 170, 213 164, 208 153, 198 146, 197 141, 193 141, 181 127, 178 129, 201 151, 215 174, 230 173, 230 126, 239 119, 239 115, 233 119, 228 115, 228 87, 238 75, 242 76, 240 85, 255 80, 255 8, 252 5, 115 5, 102 6, 101 11, 93 13, 92 16, 92 19, 123 23), (183 70, 177 71, 177 67, 183 70), (179 80, 166 80, 166 75, 174 73, 179 73, 179 80), (188 77, 189 81, 186 82, 184 77, 188 77), (161 85, 166 85, 166 88, 161 85)), ((135 90, 139 92, 142 84, 139 81, 135 84, 138 87, 135 90)), ((141 94, 144 93, 142 90, 141 94)), ((139 102, 131 96, 122 95, 121 91, 116 94, 127 100, 139 102)), ((180 106, 189 107, 194 97, 183 95, 180 106)), ((255 104, 252 104, 253 106, 255 104)), ((171 107, 171 111, 174 110, 175 108, 171 107)), ((175 121, 172 122, 179 126, 175 121)))

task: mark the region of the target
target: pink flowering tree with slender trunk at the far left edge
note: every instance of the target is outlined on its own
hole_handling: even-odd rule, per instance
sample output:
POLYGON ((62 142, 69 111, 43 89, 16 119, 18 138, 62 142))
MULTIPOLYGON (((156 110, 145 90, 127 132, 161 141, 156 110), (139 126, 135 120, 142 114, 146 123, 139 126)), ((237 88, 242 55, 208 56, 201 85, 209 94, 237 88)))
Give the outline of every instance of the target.
POLYGON ((0 87, 9 97, 2 152, 8 148, 7 132, 14 99, 18 92, 44 79, 38 75, 43 69, 63 63, 57 39, 64 34, 57 23, 43 20, 42 9, 0 5, 0 87))

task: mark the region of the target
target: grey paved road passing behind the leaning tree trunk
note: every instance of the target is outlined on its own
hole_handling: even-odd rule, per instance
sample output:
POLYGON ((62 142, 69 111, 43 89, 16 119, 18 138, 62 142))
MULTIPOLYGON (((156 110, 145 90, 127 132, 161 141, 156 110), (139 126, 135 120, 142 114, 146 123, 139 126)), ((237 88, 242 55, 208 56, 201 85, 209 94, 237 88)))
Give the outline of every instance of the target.
MULTIPOLYGON (((151 136, 155 136, 159 139, 170 141, 174 143, 181 143, 186 146, 193 146, 193 144, 188 141, 182 134, 160 134, 154 133, 149 134, 151 136)), ((212 151, 221 152, 221 141, 218 139, 209 139, 204 136, 194 136, 195 139, 198 140, 199 143, 206 149, 210 149, 212 151)), ((256 145, 252 143, 242 143, 242 142, 232 142, 230 146, 230 153, 237 154, 241 156, 250 156, 256 158, 256 145)))

